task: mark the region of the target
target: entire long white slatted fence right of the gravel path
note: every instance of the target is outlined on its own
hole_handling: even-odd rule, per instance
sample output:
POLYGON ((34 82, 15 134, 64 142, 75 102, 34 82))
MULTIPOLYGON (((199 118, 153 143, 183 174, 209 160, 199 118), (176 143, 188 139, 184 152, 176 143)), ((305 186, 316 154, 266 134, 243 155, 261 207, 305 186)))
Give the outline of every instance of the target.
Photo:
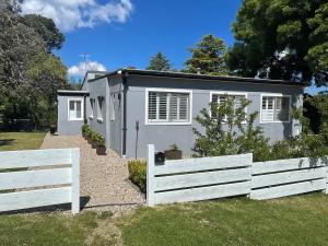
POLYGON ((154 162, 148 145, 147 203, 199 201, 247 195, 272 199, 328 191, 328 167, 320 160, 291 159, 253 163, 253 154, 154 162))

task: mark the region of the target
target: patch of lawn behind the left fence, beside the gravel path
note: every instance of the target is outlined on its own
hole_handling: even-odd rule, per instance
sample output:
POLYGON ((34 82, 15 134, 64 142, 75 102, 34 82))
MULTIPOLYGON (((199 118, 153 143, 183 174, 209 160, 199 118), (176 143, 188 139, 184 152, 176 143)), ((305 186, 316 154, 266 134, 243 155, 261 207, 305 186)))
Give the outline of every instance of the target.
POLYGON ((0 132, 0 151, 39 149, 45 134, 45 132, 0 132))

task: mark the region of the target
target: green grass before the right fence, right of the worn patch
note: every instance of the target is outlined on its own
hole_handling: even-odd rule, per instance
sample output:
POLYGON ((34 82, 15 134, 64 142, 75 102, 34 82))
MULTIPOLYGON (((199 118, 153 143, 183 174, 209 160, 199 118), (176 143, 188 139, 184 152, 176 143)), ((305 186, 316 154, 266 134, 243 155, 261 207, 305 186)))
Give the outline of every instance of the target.
POLYGON ((127 246, 323 246, 328 196, 246 198, 141 208, 120 222, 127 246))

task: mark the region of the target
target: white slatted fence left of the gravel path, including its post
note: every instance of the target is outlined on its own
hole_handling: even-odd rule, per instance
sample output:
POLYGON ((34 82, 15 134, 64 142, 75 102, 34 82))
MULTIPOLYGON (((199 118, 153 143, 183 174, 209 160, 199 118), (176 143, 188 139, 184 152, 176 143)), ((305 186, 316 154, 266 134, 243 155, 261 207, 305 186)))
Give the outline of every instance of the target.
POLYGON ((80 149, 0 152, 1 169, 0 212, 70 202, 80 212, 80 149))

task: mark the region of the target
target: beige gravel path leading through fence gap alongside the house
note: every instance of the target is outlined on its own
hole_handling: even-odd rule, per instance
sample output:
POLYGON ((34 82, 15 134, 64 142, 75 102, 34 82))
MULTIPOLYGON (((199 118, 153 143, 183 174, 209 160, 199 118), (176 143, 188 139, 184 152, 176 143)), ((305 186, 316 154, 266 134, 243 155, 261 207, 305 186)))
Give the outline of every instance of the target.
POLYGON ((144 203, 144 196, 128 180, 127 162, 114 151, 97 155, 95 150, 77 136, 47 134, 40 149, 80 148, 81 196, 90 197, 85 208, 120 212, 144 203))

